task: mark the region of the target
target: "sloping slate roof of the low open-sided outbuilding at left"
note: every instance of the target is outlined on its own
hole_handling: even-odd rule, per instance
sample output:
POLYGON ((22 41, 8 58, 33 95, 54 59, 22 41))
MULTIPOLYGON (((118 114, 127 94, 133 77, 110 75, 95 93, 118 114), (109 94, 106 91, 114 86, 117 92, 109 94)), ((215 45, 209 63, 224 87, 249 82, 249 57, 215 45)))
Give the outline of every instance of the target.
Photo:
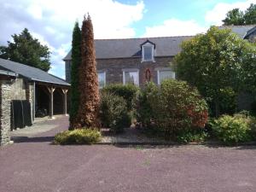
POLYGON ((55 77, 52 74, 46 73, 41 69, 26 66, 19 62, 3 60, 0 58, 0 68, 2 70, 8 70, 13 73, 17 73, 20 76, 23 76, 32 81, 44 82, 49 84, 61 84, 61 85, 70 85, 65 80, 55 77))

